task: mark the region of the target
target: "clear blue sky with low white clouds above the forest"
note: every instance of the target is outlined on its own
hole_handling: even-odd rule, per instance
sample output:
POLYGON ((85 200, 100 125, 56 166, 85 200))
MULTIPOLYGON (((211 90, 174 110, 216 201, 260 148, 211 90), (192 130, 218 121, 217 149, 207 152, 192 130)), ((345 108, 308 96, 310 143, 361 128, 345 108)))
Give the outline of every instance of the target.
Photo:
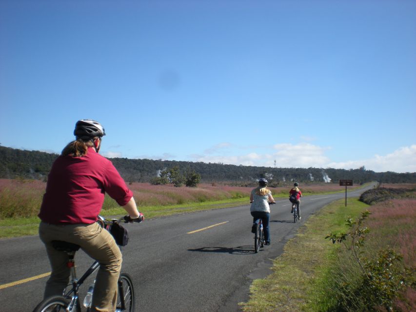
POLYGON ((416 1, 0 0, 0 143, 416 172, 416 1))

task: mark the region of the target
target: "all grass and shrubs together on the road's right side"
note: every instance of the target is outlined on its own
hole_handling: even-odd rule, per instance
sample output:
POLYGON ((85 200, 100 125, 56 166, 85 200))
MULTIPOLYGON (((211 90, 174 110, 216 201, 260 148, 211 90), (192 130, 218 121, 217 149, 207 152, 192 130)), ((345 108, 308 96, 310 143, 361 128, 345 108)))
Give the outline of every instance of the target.
POLYGON ((371 194, 388 199, 339 200, 310 217, 242 310, 416 311, 415 185, 383 185, 361 200, 371 194))

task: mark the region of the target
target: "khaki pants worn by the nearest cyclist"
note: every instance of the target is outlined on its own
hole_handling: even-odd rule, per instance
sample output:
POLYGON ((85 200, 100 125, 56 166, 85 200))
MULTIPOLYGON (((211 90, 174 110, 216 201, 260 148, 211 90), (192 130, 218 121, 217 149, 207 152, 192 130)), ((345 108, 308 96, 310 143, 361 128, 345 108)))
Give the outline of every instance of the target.
POLYGON ((41 222, 39 236, 46 246, 52 273, 46 282, 44 298, 62 295, 69 283, 70 269, 67 268, 68 255, 59 252, 51 245, 52 240, 63 240, 77 244, 90 257, 100 264, 91 311, 114 312, 117 301, 117 281, 121 270, 121 252, 113 236, 98 223, 54 225, 41 222))

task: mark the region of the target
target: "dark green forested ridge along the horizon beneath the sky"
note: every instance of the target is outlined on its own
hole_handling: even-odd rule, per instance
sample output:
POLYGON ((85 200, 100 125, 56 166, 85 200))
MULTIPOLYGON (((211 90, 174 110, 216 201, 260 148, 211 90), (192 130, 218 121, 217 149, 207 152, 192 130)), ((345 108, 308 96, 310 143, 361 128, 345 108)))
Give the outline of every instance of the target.
MULTIPOLYGON (((47 179, 57 154, 39 151, 26 151, 0 146, 0 178, 47 179)), ((193 170, 201 176, 202 183, 227 183, 232 185, 252 185, 260 177, 272 182, 272 186, 287 185, 289 182, 339 183, 340 179, 354 180, 354 184, 369 181, 380 183, 415 183, 416 173, 376 173, 359 169, 332 168, 273 168, 222 163, 204 163, 174 160, 110 158, 126 182, 149 182, 160 171, 178 166, 181 172, 193 170)))

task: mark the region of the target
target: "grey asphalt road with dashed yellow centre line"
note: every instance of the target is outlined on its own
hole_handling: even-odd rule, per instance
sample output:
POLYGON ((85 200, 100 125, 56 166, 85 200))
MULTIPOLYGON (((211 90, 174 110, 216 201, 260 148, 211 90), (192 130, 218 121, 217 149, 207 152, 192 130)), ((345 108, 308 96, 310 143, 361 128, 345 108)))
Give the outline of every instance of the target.
MULTIPOLYGON (((348 191, 348 196, 362 192, 348 191)), ((240 311, 238 302, 248 299, 253 279, 271 273, 271 259, 282 253, 298 227, 324 205, 343 197, 345 193, 303 197, 302 219, 296 224, 289 200, 278 200, 271 206, 272 244, 258 254, 254 253, 249 205, 128 224, 130 242, 123 248, 122 271, 133 277, 136 311, 240 311)), ((2 239, 0 250, 0 310, 32 311, 47 277, 6 284, 49 272, 39 237, 2 239)), ((80 251, 76 263, 80 276, 91 260, 80 251)))

